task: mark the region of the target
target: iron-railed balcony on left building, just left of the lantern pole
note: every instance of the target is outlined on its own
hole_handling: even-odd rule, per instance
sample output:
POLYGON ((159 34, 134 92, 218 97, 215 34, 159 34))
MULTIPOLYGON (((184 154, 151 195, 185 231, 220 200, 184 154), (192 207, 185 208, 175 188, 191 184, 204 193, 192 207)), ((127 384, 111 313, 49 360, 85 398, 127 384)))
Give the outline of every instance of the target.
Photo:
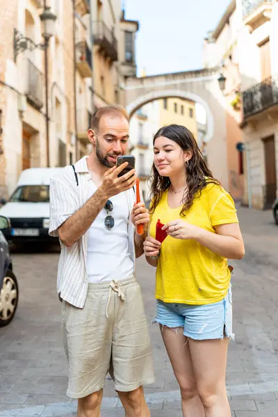
POLYGON ((25 63, 26 78, 24 93, 26 94, 28 103, 40 110, 43 106, 42 72, 35 67, 30 59, 26 59, 25 63))

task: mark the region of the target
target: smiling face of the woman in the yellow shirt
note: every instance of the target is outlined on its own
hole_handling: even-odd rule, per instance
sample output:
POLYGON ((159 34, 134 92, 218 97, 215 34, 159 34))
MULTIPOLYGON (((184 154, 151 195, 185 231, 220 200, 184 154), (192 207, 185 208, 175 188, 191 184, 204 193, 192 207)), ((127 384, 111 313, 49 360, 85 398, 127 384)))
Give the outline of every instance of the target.
POLYGON ((174 140, 164 136, 158 136, 154 141, 154 165, 161 177, 184 174, 189 159, 187 154, 174 140))

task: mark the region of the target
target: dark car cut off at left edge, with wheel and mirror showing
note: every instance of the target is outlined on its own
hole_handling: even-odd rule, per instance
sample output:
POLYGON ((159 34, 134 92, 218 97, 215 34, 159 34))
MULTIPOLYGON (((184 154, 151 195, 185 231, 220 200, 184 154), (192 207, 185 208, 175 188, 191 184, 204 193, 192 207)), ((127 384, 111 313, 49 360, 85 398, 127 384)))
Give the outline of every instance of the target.
POLYGON ((7 229, 10 229, 9 220, 0 216, 0 327, 8 325, 13 320, 19 296, 8 242, 2 233, 2 230, 7 229))

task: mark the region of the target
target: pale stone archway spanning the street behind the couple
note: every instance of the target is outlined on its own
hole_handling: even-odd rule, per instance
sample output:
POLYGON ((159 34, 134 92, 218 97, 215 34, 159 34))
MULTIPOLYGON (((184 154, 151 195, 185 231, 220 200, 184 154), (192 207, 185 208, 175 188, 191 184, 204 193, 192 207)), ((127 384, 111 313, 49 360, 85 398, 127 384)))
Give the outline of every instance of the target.
POLYGON ((142 78, 129 77, 124 85, 129 115, 149 101, 179 97, 202 104, 206 110, 207 131, 204 141, 208 165, 228 189, 227 132, 225 99, 218 83, 219 69, 204 69, 142 78))

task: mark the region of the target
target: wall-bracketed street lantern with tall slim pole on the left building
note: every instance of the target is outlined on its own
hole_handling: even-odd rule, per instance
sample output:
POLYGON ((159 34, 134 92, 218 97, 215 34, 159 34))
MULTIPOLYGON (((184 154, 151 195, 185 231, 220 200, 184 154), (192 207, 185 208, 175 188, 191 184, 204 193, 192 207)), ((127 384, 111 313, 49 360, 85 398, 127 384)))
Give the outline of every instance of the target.
POLYGON ((50 7, 46 6, 44 0, 44 11, 40 15, 40 20, 43 24, 42 38, 44 42, 35 44, 30 38, 26 38, 15 29, 14 31, 14 59, 17 60, 17 55, 26 49, 33 51, 33 49, 42 49, 44 51, 44 76, 45 76, 45 120, 46 120, 46 140, 47 140, 47 167, 49 167, 49 105, 48 105, 48 60, 47 49, 49 47, 49 39, 54 35, 56 15, 51 12, 50 7))

